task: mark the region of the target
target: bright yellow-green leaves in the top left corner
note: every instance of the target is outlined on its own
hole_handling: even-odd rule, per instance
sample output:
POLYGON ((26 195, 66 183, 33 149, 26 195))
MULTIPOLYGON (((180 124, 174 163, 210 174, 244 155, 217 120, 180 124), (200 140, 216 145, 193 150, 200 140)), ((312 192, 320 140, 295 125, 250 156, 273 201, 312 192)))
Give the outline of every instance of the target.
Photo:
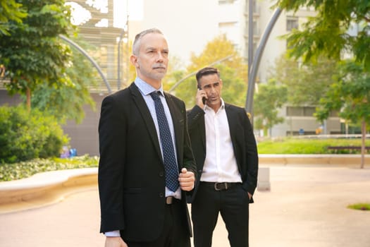
POLYGON ((16 23, 22 23, 22 19, 27 16, 22 4, 14 0, 0 0, 0 35, 10 35, 8 30, 11 28, 13 20, 16 23))

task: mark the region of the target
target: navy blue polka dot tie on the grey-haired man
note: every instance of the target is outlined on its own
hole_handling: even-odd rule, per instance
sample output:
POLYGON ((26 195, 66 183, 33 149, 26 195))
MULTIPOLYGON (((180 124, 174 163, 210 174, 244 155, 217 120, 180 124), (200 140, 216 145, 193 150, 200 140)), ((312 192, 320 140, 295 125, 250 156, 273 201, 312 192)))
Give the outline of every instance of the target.
POLYGON ((166 170, 166 187, 171 191, 178 189, 178 165, 175 159, 175 151, 172 143, 171 131, 168 127, 166 114, 164 114, 164 106, 161 102, 159 94, 161 92, 152 92, 150 95, 154 100, 156 107, 156 119, 159 126, 159 138, 161 139, 162 152, 164 156, 164 168, 166 170))

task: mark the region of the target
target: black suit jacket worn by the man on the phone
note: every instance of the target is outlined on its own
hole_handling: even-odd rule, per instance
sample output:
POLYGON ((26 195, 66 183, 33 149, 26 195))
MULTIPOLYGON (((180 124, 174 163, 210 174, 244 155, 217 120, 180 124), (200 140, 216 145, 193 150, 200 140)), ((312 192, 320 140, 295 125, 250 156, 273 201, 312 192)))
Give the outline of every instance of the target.
MULTIPOLYGON (((232 104, 225 104, 225 109, 236 162, 240 175, 242 176, 242 188, 253 195, 257 187, 258 154, 252 125, 245 109, 233 106, 232 104)), ((192 192, 191 197, 188 198, 189 202, 192 202, 196 196, 204 160, 206 159, 206 127, 204 124, 204 114, 204 110, 197 105, 187 112, 192 151, 197 163, 195 190, 192 192)), ((253 203, 252 198, 250 203, 253 203)))

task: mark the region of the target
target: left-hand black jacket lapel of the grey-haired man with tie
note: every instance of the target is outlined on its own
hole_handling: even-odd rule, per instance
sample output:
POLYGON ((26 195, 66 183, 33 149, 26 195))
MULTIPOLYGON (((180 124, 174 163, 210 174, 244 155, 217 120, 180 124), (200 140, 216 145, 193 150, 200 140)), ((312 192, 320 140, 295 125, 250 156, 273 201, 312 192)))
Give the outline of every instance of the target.
POLYGON ((135 102, 137 109, 139 109, 140 114, 142 115, 142 118, 145 121, 145 124, 147 126, 148 132, 150 137, 152 138, 154 147, 156 148, 156 152, 158 152, 159 157, 162 159, 162 154, 161 154, 161 147, 159 147, 159 139, 158 135, 156 133, 156 127, 154 125, 154 121, 152 119, 152 115, 149 112, 149 109, 147 107, 147 103, 145 103, 141 92, 135 85, 135 83, 132 83, 130 85, 130 92, 132 95, 132 100, 135 102))

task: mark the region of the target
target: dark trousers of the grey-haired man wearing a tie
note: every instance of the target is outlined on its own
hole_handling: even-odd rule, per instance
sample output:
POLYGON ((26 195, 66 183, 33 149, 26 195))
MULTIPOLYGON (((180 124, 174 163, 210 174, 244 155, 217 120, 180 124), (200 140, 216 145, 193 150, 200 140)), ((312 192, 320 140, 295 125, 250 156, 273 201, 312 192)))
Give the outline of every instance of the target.
MULTIPOLYGON (((159 239, 153 242, 125 241, 128 247, 190 247, 190 236, 187 230, 179 200, 174 200, 171 205, 166 205, 164 216, 164 229, 159 239)), ((153 212, 155 214, 155 212, 153 212)), ((145 222, 142 222, 145 224, 145 222)))

